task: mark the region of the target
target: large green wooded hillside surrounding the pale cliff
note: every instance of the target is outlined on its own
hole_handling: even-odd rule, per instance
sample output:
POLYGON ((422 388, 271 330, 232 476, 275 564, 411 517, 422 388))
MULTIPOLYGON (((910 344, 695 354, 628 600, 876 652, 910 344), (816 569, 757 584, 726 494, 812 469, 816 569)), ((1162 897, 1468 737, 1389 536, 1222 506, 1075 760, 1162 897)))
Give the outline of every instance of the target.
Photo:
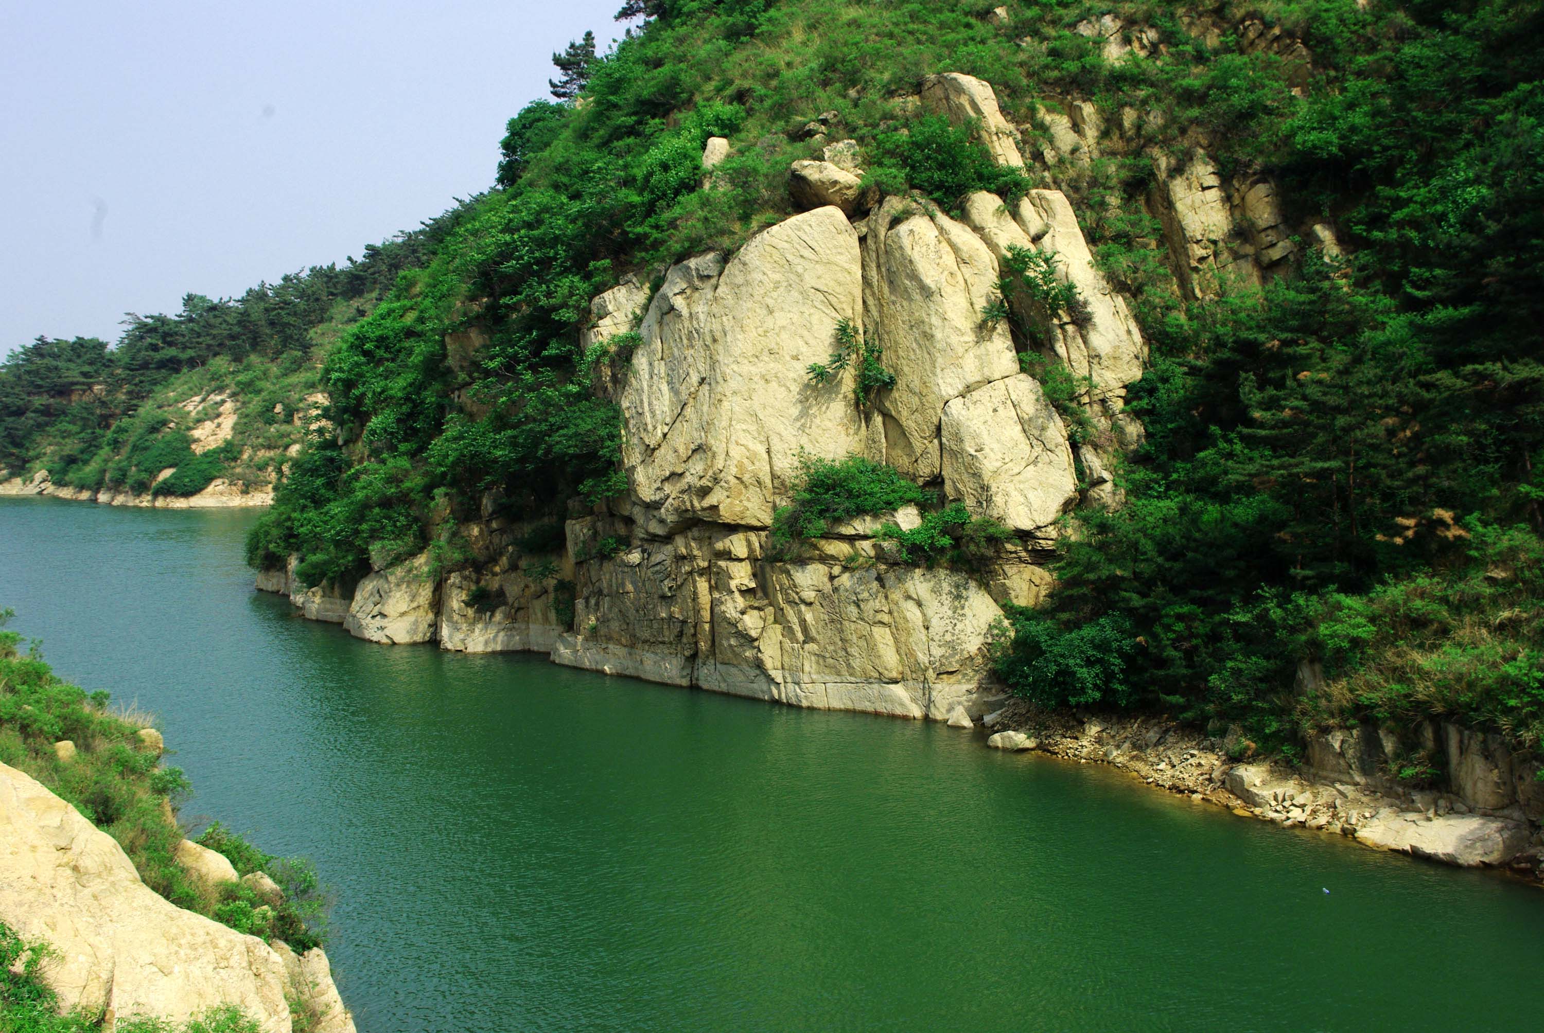
MULTIPOLYGON (((582 633, 574 593, 602 613, 585 585, 611 584, 585 565, 684 528, 633 519, 618 398, 638 313, 593 300, 648 304, 673 262, 740 255, 811 207, 797 161, 857 170, 852 204, 894 221, 1055 188, 1147 351, 1124 392, 1141 431, 1116 442, 1047 337, 1087 300, 1055 259, 1004 259, 982 320, 1014 323, 1078 449, 1055 556, 936 472, 897 483, 869 460, 804 466, 780 554, 823 514, 920 499, 883 562, 1050 561, 1039 605, 1004 604, 996 672, 1022 696, 1238 723, 1286 750, 1306 727, 1431 716, 1538 746, 1538 3, 630 0, 619 19, 610 52, 585 37, 554 57, 554 100, 510 120, 494 188, 341 332, 321 372, 338 432, 293 460, 255 565, 292 559, 340 593, 420 554, 476 574, 477 534, 513 522, 510 570, 582 633), (1022 167, 919 103, 940 73, 994 88, 1022 167), (610 533, 564 551, 565 520, 610 533)), ((811 375, 885 409, 894 344, 838 326, 811 375)), ((465 602, 516 605, 482 585, 465 602)))

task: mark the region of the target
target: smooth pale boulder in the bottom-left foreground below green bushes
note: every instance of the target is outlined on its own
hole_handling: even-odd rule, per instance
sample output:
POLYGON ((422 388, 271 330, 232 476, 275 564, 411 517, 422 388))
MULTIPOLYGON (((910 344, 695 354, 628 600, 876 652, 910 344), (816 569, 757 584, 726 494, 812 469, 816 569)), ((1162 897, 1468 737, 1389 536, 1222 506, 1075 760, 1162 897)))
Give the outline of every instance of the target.
POLYGON ((176 1024, 235 1005, 289 1033, 283 964, 262 940, 167 902, 124 849, 68 803, 0 764, 0 922, 56 957, 45 982, 63 1008, 176 1024))

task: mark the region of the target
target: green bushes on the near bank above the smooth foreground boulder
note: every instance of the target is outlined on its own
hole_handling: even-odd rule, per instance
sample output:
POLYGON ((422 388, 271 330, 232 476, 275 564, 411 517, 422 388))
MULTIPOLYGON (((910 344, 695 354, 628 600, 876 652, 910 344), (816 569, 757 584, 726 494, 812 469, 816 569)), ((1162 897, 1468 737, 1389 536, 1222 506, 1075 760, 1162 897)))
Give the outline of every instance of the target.
POLYGON ((296 950, 320 943, 323 894, 307 863, 269 857, 218 823, 210 826, 201 838, 205 846, 230 857, 241 874, 266 871, 286 891, 279 906, 261 914, 253 913, 264 902, 250 888, 210 888, 178 863, 182 829, 171 804, 187 794, 182 772, 161 766, 159 752, 137 740, 139 715, 113 713, 108 693, 88 695, 60 681, 36 641, 22 652, 20 635, 3 630, 9 619, 11 611, 0 610, 0 763, 26 772, 116 838, 145 885, 171 903, 296 950), (60 740, 76 744, 68 761, 54 752, 60 740))

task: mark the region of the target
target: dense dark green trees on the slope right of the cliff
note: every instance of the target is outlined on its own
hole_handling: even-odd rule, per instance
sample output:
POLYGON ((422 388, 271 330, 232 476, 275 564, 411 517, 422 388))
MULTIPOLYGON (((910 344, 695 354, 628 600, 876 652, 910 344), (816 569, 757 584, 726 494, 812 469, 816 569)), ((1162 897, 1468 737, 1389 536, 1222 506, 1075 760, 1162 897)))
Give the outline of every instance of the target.
MULTIPOLYGON (((1458 716, 1536 746, 1539 5, 1300 6, 1334 14, 1302 26, 1320 74, 1294 97, 1232 62, 1251 131, 1224 145, 1334 215, 1353 258, 1189 307, 1129 275, 1147 440, 1126 505, 1064 540, 1051 605, 1014 611, 1001 670, 1048 704, 1261 735, 1458 716), (1300 661, 1328 686, 1294 699, 1300 661)), ((1132 273, 1121 227, 1092 229, 1132 273)))

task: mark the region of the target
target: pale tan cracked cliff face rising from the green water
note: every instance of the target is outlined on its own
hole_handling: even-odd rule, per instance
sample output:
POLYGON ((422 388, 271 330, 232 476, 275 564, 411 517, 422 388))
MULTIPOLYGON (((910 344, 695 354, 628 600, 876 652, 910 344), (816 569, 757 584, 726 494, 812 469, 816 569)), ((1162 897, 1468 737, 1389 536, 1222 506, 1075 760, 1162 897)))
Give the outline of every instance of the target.
MULTIPOLYGON (((1106 39, 1127 36, 1116 26, 1106 39)), ((1099 148, 1138 147, 1132 119, 1075 105, 1076 119, 1051 119, 1051 137, 1082 157, 1059 154, 1044 122, 1011 125, 991 85, 970 76, 926 79, 917 105, 974 127, 1001 164, 1030 156, 1051 182, 1073 184, 1079 161, 1099 148)), ((530 551, 531 528, 496 516, 489 497, 482 520, 460 525, 476 554, 469 568, 438 573, 417 557, 357 587, 300 590, 293 570, 267 571, 259 587, 378 642, 537 650, 560 664, 809 707, 937 720, 990 709, 999 692, 988 644, 1002 605, 1033 604, 1047 590, 1038 561, 1062 514, 1081 499, 1118 502, 1109 471, 1141 440, 1124 405, 1146 344, 1061 190, 1011 205, 977 193, 956 219, 922 199, 857 191, 857 145, 826 150, 828 162, 789 173, 792 198, 809 210, 733 256, 696 255, 661 270, 653 292, 628 278, 594 300, 582 344, 638 335, 630 358, 599 381, 622 414, 624 499, 570 513, 564 544, 548 553, 530 551), (1053 315, 1005 298, 1034 340, 984 320, 1013 249, 1050 256, 1082 300, 1076 313, 1053 315), (838 326, 879 344, 896 375, 871 406, 854 401, 851 372, 811 381, 808 366, 835 351, 838 326), (1076 401, 1092 440, 1068 439, 1041 384, 1021 372, 1025 349, 1087 384, 1076 401), (883 519, 774 556, 769 528, 791 500, 801 454, 889 463, 1014 537, 976 576, 892 562, 874 537, 883 519)), ((1258 225, 1274 219, 1280 229, 1274 193, 1254 184, 1235 212, 1231 195, 1221 207, 1200 196, 1212 190, 1203 173, 1184 179, 1163 156, 1153 161, 1160 187, 1144 202, 1173 212, 1175 290, 1210 290, 1224 266, 1246 259, 1249 276, 1266 275, 1268 249, 1257 261, 1235 246, 1241 219, 1251 239, 1283 239, 1258 225)), ((451 344, 457 354, 476 347, 469 338, 451 344)), ((917 516, 892 519, 908 527, 917 516)))

